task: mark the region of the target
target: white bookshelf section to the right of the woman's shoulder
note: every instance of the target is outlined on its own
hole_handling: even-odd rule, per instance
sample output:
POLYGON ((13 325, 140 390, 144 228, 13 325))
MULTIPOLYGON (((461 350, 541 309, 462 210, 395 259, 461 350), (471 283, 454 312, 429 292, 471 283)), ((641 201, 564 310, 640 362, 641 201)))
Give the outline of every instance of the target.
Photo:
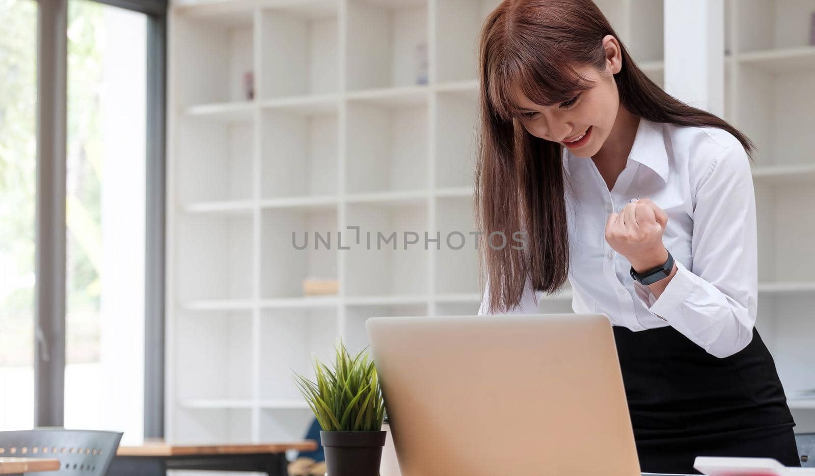
POLYGON ((815 429, 815 46, 813 0, 725 2, 725 119, 757 146, 757 327, 791 397, 796 430, 815 429))

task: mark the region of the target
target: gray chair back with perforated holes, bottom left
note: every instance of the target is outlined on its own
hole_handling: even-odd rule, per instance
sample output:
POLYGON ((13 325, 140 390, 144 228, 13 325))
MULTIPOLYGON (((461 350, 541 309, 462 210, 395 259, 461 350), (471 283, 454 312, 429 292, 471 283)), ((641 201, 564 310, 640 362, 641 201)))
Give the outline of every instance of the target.
POLYGON ((0 456, 59 460, 58 471, 38 476, 104 476, 116 456, 121 435, 118 431, 64 428, 0 431, 0 456))

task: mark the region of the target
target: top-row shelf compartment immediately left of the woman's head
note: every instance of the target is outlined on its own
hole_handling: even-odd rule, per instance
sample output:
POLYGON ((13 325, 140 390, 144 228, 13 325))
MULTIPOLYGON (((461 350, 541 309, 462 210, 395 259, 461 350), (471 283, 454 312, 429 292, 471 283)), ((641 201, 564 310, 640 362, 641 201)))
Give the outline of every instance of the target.
POLYGON ((437 81, 478 77, 478 33, 497 0, 445 0, 436 8, 437 81))

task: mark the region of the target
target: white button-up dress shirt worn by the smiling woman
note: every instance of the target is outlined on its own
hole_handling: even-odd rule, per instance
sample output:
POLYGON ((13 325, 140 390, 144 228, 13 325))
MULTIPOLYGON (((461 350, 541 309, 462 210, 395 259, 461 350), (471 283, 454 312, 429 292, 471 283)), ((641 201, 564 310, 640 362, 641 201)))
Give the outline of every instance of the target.
MULTIPOLYGON (((747 153, 733 134, 641 119, 611 191, 592 159, 564 149, 562 160, 575 312, 605 314, 634 331, 672 325, 717 357, 751 342, 756 198, 747 153), (632 280, 631 264, 606 242, 609 214, 633 198, 651 199, 668 216, 663 243, 677 270, 659 299, 632 280)), ((488 290, 479 315, 487 313, 488 290)), ((521 303, 507 313, 535 313, 542 295, 527 280, 521 303)))

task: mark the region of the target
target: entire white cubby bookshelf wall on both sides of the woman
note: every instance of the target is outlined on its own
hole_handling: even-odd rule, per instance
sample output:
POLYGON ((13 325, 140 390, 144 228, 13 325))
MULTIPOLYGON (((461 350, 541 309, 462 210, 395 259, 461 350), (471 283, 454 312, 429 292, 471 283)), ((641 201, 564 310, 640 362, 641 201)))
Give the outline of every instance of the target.
MULTIPOLYGON (((805 244, 815 230, 800 200, 815 198, 806 154, 815 144, 790 131, 813 124, 812 100, 802 97, 815 79, 813 56, 770 33, 739 40, 750 22, 773 28, 775 16, 759 11, 765 1, 783 11, 778 21, 803 18, 782 0, 728 5, 727 18, 746 23, 728 27, 738 44, 728 59, 728 115, 761 147, 760 327, 769 328, 785 384, 803 389, 815 386, 804 365, 815 299, 805 244), (797 152, 773 154, 782 149, 797 152)), ((598 3, 662 85, 662 2, 598 3)), ((425 251, 401 249, 401 234, 416 231, 422 242, 425 231, 444 240, 474 230, 476 46, 496 4, 235 0, 171 9, 167 439, 300 439, 311 410, 291 370, 310 374, 311 352, 330 355, 338 335, 362 348, 369 317, 477 312, 474 237, 458 251, 444 242, 425 251), (426 83, 416 72, 421 43, 426 83), (248 71, 251 99, 242 94, 248 71), (398 232, 399 249, 337 250, 336 232, 350 242, 354 225, 398 232), (331 250, 297 251, 292 231, 310 239, 331 231, 331 250), (302 279, 314 275, 336 276, 338 295, 302 295, 302 279)), ((542 308, 571 312, 571 291, 542 308)))

